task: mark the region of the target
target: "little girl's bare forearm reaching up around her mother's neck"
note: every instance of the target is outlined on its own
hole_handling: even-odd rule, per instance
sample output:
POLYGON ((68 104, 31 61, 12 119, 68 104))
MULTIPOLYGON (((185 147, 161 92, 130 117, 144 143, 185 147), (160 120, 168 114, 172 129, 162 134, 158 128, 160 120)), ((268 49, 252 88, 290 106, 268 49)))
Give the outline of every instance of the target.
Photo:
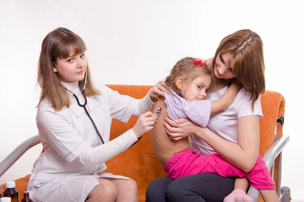
POLYGON ((211 101, 211 113, 225 110, 231 106, 233 100, 236 98, 241 86, 231 84, 221 98, 211 101))

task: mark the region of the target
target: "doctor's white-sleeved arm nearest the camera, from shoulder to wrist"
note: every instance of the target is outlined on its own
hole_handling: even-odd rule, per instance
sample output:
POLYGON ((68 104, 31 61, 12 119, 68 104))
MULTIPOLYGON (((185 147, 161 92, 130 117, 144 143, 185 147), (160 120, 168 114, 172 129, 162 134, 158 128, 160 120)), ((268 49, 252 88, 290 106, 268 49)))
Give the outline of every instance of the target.
POLYGON ((69 163, 79 159, 88 165, 98 165, 122 153, 138 141, 130 129, 119 137, 92 148, 66 119, 54 112, 38 112, 36 121, 42 139, 69 163))

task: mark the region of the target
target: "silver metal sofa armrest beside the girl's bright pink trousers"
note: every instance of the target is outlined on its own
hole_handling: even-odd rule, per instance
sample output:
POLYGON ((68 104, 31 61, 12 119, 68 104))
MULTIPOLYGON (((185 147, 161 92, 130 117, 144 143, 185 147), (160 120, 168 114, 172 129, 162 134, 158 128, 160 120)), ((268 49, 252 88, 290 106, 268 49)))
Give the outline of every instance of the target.
MULTIPOLYGON (((271 169, 275 159, 281 154, 283 148, 286 146, 289 139, 289 135, 282 134, 280 138, 276 142, 274 142, 274 144, 266 151, 263 156, 263 160, 265 161, 268 170, 271 169)), ((253 197, 253 202, 256 202, 259 198, 260 192, 258 189, 250 187, 247 195, 253 197)))

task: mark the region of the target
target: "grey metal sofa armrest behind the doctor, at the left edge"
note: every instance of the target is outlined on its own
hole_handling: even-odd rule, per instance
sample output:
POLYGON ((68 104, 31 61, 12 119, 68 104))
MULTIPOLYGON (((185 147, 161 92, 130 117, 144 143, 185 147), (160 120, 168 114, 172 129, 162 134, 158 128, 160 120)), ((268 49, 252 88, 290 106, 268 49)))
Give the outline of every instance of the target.
POLYGON ((39 144, 40 135, 35 135, 24 142, 22 142, 17 148, 15 148, 9 156, 7 156, 0 163, 0 177, 7 171, 9 168, 31 147, 36 144, 39 144))

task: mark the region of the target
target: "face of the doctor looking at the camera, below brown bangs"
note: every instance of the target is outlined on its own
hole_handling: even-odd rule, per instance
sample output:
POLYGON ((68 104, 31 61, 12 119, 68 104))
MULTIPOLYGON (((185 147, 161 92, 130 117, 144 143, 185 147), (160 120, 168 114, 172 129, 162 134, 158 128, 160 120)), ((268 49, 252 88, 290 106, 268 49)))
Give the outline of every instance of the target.
POLYGON ((84 53, 74 55, 70 52, 68 58, 57 59, 54 72, 57 72, 61 82, 82 81, 87 69, 87 58, 84 53))

